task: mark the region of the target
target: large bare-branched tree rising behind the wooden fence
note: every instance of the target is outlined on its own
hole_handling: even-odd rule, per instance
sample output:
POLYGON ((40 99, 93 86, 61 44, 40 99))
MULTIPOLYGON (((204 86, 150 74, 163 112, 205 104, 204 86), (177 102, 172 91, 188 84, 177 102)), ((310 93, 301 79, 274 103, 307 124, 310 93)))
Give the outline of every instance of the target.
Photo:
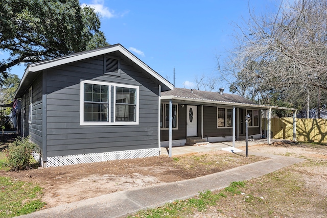
MULTIPOLYGON (((250 11, 250 10, 249 10, 250 11)), ((277 13, 255 16, 237 26, 238 45, 218 71, 230 91, 269 102, 279 93, 284 102, 307 90, 327 91, 327 0, 282 3, 277 13), (313 88, 316 87, 316 88, 313 88)))

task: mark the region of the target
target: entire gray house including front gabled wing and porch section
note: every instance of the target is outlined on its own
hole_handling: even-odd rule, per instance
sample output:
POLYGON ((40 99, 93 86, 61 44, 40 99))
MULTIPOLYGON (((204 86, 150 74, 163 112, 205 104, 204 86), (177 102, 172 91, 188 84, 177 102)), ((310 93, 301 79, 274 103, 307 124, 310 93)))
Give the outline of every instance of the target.
POLYGON ((158 156, 190 138, 235 142, 247 114, 250 137, 267 126, 269 143, 262 111, 270 120, 271 109, 295 110, 174 88, 120 44, 30 64, 15 99, 20 133, 38 144, 44 167, 158 156))

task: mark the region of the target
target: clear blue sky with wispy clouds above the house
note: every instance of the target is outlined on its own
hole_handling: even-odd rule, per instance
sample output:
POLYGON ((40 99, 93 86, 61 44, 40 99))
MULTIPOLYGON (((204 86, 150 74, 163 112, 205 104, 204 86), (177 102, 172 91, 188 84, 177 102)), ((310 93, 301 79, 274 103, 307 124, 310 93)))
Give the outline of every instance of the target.
MULTIPOLYGON (((228 55, 232 34, 249 7, 256 15, 274 11, 272 0, 135 1, 80 0, 101 14, 101 30, 110 44, 120 43, 175 87, 194 88, 198 75, 217 75, 217 56, 228 55)), ((5 58, 4 53, 0 57, 5 58)), ((25 66, 13 67, 20 78, 25 66)), ((219 87, 228 91, 221 82, 219 87)))

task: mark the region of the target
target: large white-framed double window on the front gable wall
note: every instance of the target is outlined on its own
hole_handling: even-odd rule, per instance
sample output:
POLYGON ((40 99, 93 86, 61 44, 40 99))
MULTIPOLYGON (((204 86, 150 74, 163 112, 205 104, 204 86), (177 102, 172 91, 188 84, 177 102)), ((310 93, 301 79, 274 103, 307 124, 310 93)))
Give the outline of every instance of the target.
POLYGON ((138 86, 92 80, 80 85, 81 126, 138 125, 138 86))

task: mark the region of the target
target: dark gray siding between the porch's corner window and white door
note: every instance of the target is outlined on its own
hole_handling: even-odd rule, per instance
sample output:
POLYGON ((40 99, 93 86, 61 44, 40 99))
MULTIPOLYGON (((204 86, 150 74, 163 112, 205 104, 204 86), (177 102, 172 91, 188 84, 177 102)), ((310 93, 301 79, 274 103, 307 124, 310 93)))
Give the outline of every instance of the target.
MULTIPOLYGON (((178 129, 173 130, 172 140, 185 139, 186 138, 186 105, 184 108, 181 104, 178 104, 178 129)), ((161 129, 160 141, 169 140, 169 130, 161 129)))

